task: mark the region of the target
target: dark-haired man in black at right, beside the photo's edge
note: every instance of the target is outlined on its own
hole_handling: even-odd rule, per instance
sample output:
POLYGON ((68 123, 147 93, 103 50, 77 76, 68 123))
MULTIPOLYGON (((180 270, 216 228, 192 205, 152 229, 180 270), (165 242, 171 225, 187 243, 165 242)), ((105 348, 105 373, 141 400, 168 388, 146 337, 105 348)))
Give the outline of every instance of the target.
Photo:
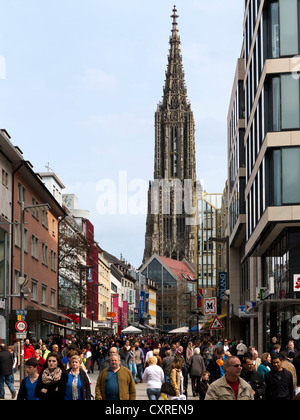
POLYGON ((293 375, 281 366, 281 356, 272 359, 273 370, 266 373, 266 399, 292 400, 294 398, 293 375))

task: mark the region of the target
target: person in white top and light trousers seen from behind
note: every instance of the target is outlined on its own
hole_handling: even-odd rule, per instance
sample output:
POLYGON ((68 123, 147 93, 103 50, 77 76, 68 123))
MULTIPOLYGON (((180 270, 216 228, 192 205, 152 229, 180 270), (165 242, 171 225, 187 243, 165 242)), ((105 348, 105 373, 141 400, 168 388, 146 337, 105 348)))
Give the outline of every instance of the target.
POLYGON ((165 381, 164 371, 157 365, 156 356, 148 358, 148 365, 143 373, 143 381, 147 382, 147 396, 149 400, 158 400, 161 386, 165 381))

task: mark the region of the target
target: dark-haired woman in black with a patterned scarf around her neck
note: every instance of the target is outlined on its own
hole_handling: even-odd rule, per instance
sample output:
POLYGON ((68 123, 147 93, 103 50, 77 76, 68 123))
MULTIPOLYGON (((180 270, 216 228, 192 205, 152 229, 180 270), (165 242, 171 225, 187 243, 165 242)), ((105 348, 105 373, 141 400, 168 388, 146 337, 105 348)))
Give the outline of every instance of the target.
POLYGON ((50 353, 39 375, 35 396, 44 401, 65 399, 68 374, 57 353, 50 353))

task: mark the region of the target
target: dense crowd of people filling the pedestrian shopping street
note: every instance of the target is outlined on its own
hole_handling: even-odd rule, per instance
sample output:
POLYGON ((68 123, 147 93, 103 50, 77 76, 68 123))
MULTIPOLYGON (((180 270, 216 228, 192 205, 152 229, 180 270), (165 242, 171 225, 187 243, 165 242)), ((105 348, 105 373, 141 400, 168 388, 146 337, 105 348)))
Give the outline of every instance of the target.
POLYGON ((5 384, 17 400, 135 400, 139 383, 149 400, 186 400, 190 380, 199 400, 300 399, 300 353, 293 340, 269 351, 227 339, 139 335, 87 340, 25 340, 26 374, 18 394, 17 348, 0 345, 0 399, 5 384), (99 372, 95 389, 90 374, 99 372))

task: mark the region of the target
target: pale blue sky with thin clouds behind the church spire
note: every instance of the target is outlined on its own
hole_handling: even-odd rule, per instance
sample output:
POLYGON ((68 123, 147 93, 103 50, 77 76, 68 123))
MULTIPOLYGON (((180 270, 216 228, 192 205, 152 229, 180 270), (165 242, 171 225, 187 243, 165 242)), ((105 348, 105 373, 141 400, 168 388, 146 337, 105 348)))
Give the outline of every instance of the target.
POLYGON ((227 179, 227 113, 243 40, 242 0, 0 0, 0 128, 35 172, 47 166, 90 211, 95 240, 138 268, 154 114, 177 7, 196 169, 227 179))

